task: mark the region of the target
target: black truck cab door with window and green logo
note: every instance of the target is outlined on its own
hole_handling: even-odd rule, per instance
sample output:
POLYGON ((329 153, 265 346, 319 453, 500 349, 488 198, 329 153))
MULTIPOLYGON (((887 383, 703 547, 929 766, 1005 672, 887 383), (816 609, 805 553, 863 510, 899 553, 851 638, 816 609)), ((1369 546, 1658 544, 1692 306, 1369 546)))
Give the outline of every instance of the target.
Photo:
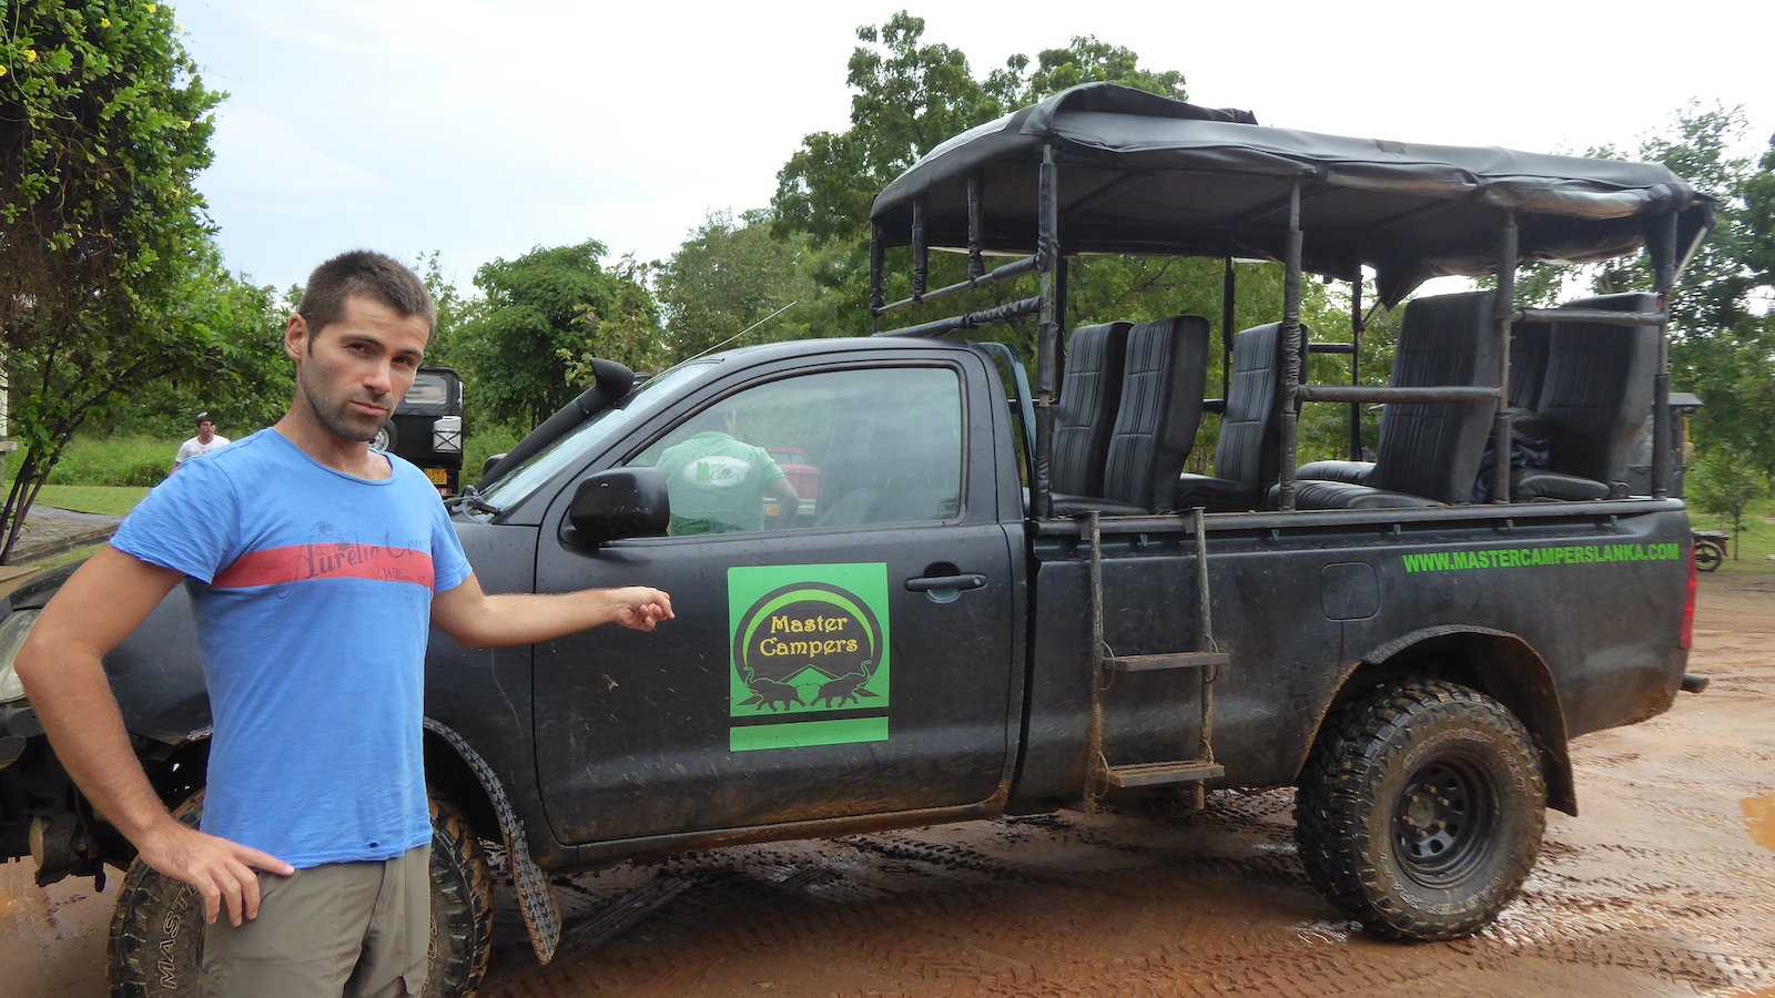
POLYGON ((627 442, 618 463, 667 474, 671 536, 572 547, 556 540, 572 488, 550 508, 538 591, 657 586, 676 611, 653 634, 536 646, 559 840, 998 790, 1014 600, 985 369, 953 352, 866 357, 735 375, 627 442))

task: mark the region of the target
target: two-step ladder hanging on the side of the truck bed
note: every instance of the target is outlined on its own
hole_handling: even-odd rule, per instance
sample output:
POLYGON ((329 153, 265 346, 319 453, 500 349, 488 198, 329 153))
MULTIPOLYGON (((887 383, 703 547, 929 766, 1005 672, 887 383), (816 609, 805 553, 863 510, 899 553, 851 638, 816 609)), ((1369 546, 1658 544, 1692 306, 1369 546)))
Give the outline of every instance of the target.
POLYGON ((1092 545, 1092 716, 1085 737, 1085 808, 1093 810, 1097 801, 1113 788, 1175 785, 1195 785, 1195 801, 1196 806, 1202 806, 1205 796, 1202 781, 1227 774, 1227 767, 1214 762, 1214 680, 1223 668, 1232 664, 1232 657, 1214 643, 1214 620, 1209 611, 1207 531, 1202 527, 1202 510, 1196 508, 1191 515, 1191 533, 1196 538, 1196 634, 1200 634, 1202 646, 1187 652, 1116 655, 1109 648, 1104 641, 1102 529, 1095 510, 1086 513, 1083 527, 1092 545), (1195 669, 1196 680, 1202 684, 1198 698, 1202 737, 1195 758, 1109 765, 1104 755, 1104 691, 1116 673, 1159 669, 1195 669))

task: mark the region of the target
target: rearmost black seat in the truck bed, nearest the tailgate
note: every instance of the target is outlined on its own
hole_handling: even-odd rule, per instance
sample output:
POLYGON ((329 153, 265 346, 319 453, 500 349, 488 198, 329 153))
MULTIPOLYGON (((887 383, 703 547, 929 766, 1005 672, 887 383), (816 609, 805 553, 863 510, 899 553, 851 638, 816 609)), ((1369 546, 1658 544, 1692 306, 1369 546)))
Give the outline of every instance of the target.
MULTIPOLYGON (((1603 295, 1560 307, 1653 313, 1658 298, 1649 293, 1603 295)), ((1656 325, 1562 321, 1548 327, 1546 376, 1534 412, 1537 428, 1548 439, 1548 467, 1516 471, 1511 495, 1626 495, 1633 437, 1653 408, 1656 366, 1656 325)))

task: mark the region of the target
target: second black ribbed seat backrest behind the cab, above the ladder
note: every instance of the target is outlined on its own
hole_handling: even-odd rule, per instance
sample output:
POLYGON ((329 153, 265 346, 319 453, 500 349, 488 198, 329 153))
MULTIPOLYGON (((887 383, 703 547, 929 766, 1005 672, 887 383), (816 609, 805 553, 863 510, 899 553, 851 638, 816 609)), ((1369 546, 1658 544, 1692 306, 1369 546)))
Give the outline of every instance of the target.
POLYGON ((1104 497, 1170 510, 1202 423, 1209 320, 1173 316, 1127 334, 1122 410, 1104 460, 1104 497))

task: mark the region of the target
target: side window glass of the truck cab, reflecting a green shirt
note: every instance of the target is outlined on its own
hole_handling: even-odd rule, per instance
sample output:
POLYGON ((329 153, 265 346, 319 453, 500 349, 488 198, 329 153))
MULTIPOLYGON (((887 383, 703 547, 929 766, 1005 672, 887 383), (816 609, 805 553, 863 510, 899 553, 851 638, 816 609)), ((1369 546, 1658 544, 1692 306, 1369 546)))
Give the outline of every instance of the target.
POLYGON ((946 520, 962 506, 960 382, 948 368, 769 382, 630 465, 666 472, 673 535, 946 520))

